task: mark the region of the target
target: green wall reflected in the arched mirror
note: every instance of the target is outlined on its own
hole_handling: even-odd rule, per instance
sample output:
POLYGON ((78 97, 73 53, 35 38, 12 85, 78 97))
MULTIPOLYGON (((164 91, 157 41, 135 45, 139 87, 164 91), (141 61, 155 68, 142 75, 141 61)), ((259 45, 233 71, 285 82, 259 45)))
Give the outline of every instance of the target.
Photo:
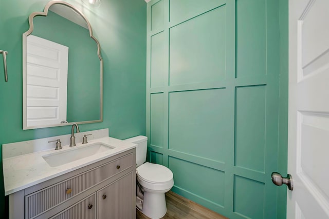
POLYGON ((66 121, 100 120, 100 59, 89 30, 52 11, 34 17, 33 26, 32 35, 69 48, 66 121))

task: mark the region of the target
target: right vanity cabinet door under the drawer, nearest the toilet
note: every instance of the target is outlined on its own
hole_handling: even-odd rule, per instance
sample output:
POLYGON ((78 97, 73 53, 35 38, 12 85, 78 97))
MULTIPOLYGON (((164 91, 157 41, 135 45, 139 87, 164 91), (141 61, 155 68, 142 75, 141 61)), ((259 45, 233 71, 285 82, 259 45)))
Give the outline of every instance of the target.
POLYGON ((98 219, 133 218, 133 174, 130 172, 97 191, 98 219))

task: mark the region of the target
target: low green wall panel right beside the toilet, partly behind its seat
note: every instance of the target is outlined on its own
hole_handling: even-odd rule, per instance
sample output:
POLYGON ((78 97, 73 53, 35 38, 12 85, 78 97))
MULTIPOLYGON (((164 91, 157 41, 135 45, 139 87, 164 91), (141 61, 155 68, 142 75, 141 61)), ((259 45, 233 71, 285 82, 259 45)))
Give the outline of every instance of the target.
POLYGON ((169 157, 168 160, 176 187, 224 206, 224 172, 175 157, 169 157))

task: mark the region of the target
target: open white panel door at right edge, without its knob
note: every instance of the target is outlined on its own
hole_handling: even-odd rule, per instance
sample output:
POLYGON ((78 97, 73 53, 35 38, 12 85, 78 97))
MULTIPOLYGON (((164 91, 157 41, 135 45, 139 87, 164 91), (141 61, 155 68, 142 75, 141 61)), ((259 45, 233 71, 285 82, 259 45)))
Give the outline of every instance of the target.
POLYGON ((287 218, 329 218, 329 1, 289 1, 287 218))

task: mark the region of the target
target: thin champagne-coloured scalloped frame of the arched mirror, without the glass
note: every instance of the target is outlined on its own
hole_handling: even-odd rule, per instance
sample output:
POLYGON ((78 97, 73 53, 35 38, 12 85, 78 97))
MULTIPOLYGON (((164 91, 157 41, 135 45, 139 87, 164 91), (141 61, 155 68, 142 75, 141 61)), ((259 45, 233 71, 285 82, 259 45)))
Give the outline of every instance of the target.
POLYGON ((101 56, 101 50, 100 50, 99 42, 93 35, 92 26, 90 26, 90 23, 88 22, 87 18, 84 16, 84 14, 79 9, 77 9, 76 7, 70 5, 66 2, 63 2, 63 1, 57 1, 57 0, 50 1, 45 6, 45 9, 44 9, 43 12, 33 12, 33 13, 30 14, 30 16, 29 16, 29 29, 25 33, 23 33, 23 130, 36 129, 36 128, 47 128, 47 127, 57 127, 57 126, 68 126, 68 125, 72 125, 74 123, 86 124, 86 123, 99 123, 99 122, 103 122, 103 59, 102 59, 102 56, 101 56), (53 125, 27 126, 27 92, 26 92, 26 82, 27 82, 27 55, 26 55, 27 41, 26 41, 26 38, 27 38, 28 35, 30 35, 33 32, 33 18, 35 16, 47 16, 50 6, 52 6, 54 4, 65 5, 69 8, 71 8, 72 10, 74 10, 75 12, 77 12, 78 14, 80 14, 81 17, 83 17, 83 19, 87 23, 90 37, 92 39, 94 39, 94 41, 97 44, 97 55, 98 55, 98 58, 100 59, 100 119, 99 120, 93 120, 93 121, 77 121, 77 122, 69 122, 69 123, 53 124, 53 125))

